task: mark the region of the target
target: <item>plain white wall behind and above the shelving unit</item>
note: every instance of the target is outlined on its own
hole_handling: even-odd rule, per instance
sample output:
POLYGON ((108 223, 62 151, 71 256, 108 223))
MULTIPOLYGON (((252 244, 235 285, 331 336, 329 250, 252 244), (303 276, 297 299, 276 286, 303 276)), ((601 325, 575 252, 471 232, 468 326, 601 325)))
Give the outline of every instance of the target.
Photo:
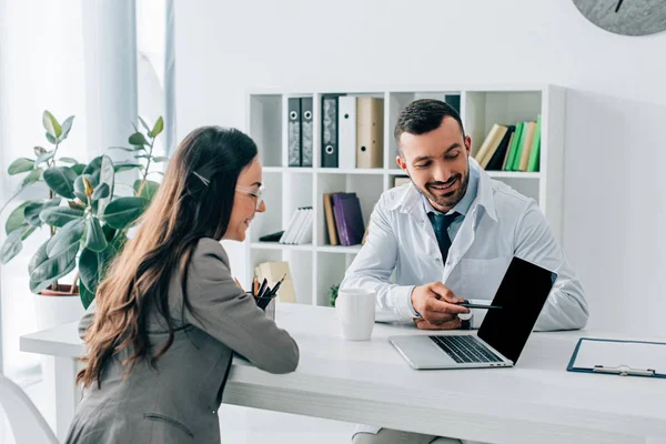
POLYGON ((571 88, 564 243, 589 325, 666 335, 666 32, 608 33, 571 0, 178 0, 175 11, 179 139, 243 128, 245 90, 260 87, 571 88))

